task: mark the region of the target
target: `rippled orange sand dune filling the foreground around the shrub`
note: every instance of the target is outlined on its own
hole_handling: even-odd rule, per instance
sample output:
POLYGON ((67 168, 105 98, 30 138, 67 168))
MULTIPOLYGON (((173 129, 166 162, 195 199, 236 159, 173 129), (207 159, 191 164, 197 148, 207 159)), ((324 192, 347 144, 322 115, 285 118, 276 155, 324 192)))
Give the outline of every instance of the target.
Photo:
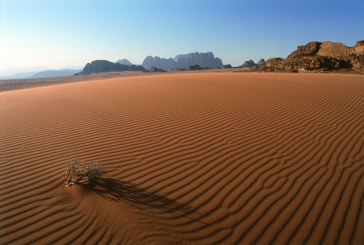
POLYGON ((1 244, 364 244, 364 76, 0 93, 1 244), (64 186, 68 157, 108 178, 64 186))

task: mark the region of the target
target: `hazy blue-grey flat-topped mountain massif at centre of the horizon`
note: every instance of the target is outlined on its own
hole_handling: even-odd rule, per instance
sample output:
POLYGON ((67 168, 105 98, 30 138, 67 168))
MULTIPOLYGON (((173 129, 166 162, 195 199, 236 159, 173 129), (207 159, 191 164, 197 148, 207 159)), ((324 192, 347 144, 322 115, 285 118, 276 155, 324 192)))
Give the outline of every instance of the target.
POLYGON ((185 68, 187 69, 190 65, 198 64, 201 67, 210 67, 217 68, 222 67, 222 60, 219 58, 215 58, 212 52, 207 53, 188 53, 186 55, 176 55, 174 59, 169 58, 160 58, 158 56, 152 57, 147 56, 142 66, 146 69, 150 69, 151 67, 159 67, 164 70, 171 70, 177 68, 185 68))

